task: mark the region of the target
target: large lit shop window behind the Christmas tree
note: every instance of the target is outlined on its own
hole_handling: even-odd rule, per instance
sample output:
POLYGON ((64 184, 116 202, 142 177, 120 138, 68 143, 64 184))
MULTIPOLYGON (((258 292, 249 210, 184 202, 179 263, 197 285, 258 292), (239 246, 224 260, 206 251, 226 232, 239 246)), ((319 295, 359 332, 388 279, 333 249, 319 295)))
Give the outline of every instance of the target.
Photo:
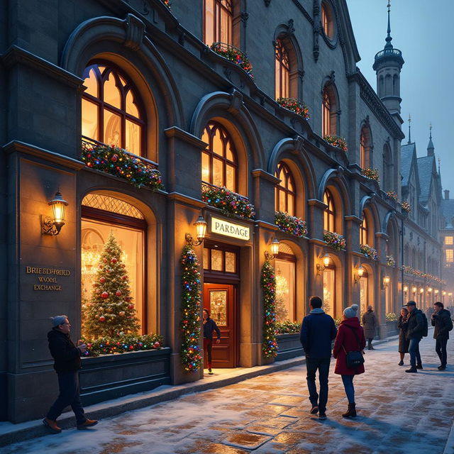
POLYGON ((143 214, 131 204, 101 194, 89 194, 84 198, 81 250, 82 308, 92 297, 99 266, 104 265, 100 263, 101 253, 109 235, 112 234, 122 251, 120 260, 125 265, 125 275, 128 277, 131 290, 131 304, 135 307, 142 333, 145 332, 145 232, 143 214), (106 207, 109 206, 112 211, 106 211, 106 207))

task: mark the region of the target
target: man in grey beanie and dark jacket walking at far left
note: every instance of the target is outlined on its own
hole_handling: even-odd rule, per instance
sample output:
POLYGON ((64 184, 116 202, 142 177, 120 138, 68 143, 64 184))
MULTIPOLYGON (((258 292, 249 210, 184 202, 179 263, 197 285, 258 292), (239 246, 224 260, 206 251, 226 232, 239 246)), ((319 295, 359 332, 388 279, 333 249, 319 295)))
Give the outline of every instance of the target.
POLYGON ((60 394, 50 407, 43 423, 51 433, 60 433, 57 418, 63 409, 71 406, 78 429, 95 426, 96 419, 88 419, 84 414, 79 395, 79 369, 82 367, 80 355, 85 352, 85 344, 78 341, 77 347, 70 339, 71 324, 66 315, 51 318, 52 330, 48 333, 49 350, 54 358, 54 369, 57 372, 60 394))

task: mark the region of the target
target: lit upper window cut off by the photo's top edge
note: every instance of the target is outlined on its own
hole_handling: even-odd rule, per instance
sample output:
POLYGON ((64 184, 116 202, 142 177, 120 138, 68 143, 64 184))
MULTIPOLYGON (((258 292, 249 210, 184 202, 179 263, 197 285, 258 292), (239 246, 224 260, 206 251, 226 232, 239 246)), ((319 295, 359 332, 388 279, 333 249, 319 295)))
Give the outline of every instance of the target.
POLYGON ((233 44, 233 1, 204 0, 204 40, 233 44))

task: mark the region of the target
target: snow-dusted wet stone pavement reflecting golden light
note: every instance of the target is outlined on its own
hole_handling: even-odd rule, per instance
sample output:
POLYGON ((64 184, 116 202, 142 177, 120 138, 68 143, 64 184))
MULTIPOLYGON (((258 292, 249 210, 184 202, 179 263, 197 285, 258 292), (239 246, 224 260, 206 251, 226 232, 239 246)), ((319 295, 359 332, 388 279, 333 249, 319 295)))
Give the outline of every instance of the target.
MULTIPOLYGON (((433 331, 429 331, 431 336, 433 331)), ((454 366, 439 372, 435 341, 424 338, 424 370, 399 367, 397 341, 366 351, 355 377, 358 417, 345 420, 341 377, 331 362, 326 421, 309 415, 305 366, 0 448, 27 454, 453 454, 454 366)), ((408 355, 406 355, 408 357, 408 355)), ((448 341, 448 362, 454 341, 448 341)), ((454 362, 454 360, 453 360, 454 362)), ((206 377, 209 380, 209 377, 206 377)))

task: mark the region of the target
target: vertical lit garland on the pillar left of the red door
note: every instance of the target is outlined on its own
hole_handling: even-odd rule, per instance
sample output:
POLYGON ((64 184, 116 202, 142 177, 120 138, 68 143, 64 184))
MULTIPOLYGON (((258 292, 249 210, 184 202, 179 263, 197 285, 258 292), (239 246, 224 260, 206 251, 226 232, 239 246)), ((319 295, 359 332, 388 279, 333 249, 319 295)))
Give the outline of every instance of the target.
POLYGON ((200 273, 196 253, 184 246, 182 267, 182 363, 187 372, 196 372, 202 364, 200 339, 200 273))

